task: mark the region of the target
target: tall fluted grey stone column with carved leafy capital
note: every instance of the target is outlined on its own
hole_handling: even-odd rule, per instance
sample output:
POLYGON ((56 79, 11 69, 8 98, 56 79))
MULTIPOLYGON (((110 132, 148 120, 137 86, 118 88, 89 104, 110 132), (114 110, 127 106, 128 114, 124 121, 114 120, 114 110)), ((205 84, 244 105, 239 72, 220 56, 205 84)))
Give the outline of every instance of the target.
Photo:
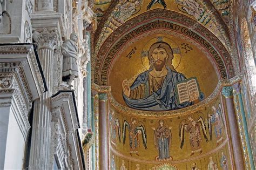
POLYGON ((48 91, 35 101, 29 166, 32 169, 49 169, 53 50, 58 45, 58 34, 56 30, 49 32, 44 28, 41 33, 33 33, 33 40, 38 47, 48 91))

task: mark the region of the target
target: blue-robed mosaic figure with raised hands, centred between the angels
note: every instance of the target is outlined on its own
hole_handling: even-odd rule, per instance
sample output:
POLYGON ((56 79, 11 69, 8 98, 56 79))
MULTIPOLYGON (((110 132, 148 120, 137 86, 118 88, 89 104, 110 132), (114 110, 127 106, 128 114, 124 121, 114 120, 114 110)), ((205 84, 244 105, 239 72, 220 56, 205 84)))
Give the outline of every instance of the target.
POLYGON ((156 160, 172 159, 170 157, 169 148, 172 140, 172 127, 165 126, 164 120, 159 120, 157 128, 152 127, 154 130, 154 146, 158 149, 158 157, 156 160))

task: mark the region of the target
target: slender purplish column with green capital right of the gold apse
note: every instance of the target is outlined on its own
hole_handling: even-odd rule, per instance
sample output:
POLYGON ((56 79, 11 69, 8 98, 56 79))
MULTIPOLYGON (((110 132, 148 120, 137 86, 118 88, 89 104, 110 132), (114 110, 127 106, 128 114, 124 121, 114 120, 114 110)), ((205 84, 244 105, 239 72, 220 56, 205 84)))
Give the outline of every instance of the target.
POLYGON ((245 167, 244 167, 244 159, 242 155, 242 146, 240 144, 237 117, 235 115, 235 110, 234 110, 233 87, 232 86, 223 87, 222 94, 226 100, 228 126, 230 129, 230 134, 232 134, 231 141, 232 141, 235 169, 242 170, 242 169, 245 169, 245 167))

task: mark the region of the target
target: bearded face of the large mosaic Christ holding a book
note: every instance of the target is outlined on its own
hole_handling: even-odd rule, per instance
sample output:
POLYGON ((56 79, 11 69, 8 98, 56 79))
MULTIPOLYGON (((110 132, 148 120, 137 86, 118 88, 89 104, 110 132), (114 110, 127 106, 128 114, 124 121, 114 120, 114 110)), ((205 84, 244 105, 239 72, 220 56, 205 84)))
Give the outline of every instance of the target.
POLYGON ((156 48, 152 52, 152 60, 154 61, 154 68, 161 71, 166 64, 168 58, 167 52, 163 48, 156 48))

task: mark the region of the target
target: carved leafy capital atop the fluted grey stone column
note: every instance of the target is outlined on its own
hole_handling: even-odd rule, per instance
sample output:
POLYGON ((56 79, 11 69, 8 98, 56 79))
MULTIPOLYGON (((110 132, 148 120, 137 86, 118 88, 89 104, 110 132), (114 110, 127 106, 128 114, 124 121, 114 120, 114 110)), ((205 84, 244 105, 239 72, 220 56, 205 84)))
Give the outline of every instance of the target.
POLYGON ((35 40, 38 49, 48 48, 54 50, 59 46, 59 35, 56 29, 49 31, 43 28, 41 32, 34 30, 33 40, 35 40))

